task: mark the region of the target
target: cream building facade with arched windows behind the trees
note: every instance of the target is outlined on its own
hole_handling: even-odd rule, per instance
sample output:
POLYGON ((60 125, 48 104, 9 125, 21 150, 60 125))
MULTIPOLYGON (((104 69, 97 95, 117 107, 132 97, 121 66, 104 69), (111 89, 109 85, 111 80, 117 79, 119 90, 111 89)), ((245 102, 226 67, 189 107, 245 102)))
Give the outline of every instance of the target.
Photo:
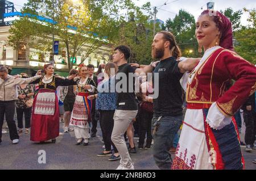
MULTIPOLYGON (((0 27, 0 64, 8 65, 13 68, 12 74, 28 73, 34 74, 38 69, 42 69, 44 64, 48 64, 50 60, 50 52, 43 52, 29 46, 29 42, 22 42, 19 44, 18 49, 10 47, 7 43, 10 26, 0 27)), ((82 60, 85 59, 86 50, 90 47, 89 44, 84 44, 83 47, 77 52, 75 60, 75 66, 79 65, 82 60)), ((92 64, 97 68, 100 64, 104 64, 110 60, 109 46, 102 46, 95 52, 91 53, 88 58, 84 60, 84 64, 92 64)), ((55 72, 60 75, 68 74, 68 58, 67 49, 59 49, 59 54, 54 56, 55 72)), ((71 61, 71 60, 69 60, 71 61)))

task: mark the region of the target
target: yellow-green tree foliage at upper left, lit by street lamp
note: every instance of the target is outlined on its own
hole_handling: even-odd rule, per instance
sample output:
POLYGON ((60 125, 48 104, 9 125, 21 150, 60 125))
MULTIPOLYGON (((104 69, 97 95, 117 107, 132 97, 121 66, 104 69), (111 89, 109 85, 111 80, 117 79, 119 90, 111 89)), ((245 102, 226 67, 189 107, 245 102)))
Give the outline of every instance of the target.
MULTIPOLYGON (((54 32, 61 46, 67 48, 67 58, 76 57, 83 45, 88 45, 83 62, 101 45, 113 41, 118 22, 122 19, 120 9, 132 9, 130 1, 121 0, 29 0, 22 12, 27 16, 14 22, 10 30, 9 43, 14 47, 20 41, 30 40, 31 47, 42 51, 52 49, 51 34, 54 32), (54 19, 40 22, 38 16, 54 19)), ((68 68, 73 66, 68 61, 68 68)))

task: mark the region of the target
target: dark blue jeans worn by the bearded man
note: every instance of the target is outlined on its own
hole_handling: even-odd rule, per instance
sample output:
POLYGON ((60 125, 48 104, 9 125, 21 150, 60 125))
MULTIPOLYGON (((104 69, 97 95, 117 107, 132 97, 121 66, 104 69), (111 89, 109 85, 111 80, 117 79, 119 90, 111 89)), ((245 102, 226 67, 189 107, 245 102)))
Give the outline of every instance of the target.
MULTIPOLYGON (((152 129, 154 129, 155 122, 159 117, 153 117, 152 129)), ((153 157, 156 165, 161 170, 170 170, 172 165, 172 158, 169 152, 172 147, 174 137, 179 131, 183 116, 162 116, 159 121, 158 129, 152 135, 154 138, 154 145, 152 148, 153 157)))

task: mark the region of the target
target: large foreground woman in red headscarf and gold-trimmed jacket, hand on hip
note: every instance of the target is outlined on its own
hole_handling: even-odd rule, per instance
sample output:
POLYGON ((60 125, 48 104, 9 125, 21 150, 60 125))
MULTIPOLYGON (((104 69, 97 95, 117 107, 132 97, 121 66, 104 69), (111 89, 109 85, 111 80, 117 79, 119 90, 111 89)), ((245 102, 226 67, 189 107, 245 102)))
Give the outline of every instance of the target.
POLYGON ((187 112, 172 169, 244 169, 232 116, 255 91, 256 68, 233 51, 232 26, 220 12, 202 12, 196 37, 205 52, 181 78, 187 112))

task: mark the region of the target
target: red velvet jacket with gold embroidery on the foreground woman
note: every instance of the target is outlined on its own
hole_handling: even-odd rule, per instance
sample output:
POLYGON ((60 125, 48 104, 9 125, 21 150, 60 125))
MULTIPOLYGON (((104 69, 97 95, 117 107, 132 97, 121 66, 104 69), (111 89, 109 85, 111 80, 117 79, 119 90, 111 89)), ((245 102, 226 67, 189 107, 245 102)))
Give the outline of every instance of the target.
POLYGON ((256 68, 238 56, 236 52, 220 48, 215 50, 196 71, 195 77, 187 85, 188 103, 217 102, 225 115, 232 116, 255 91, 256 68), (230 82, 236 83, 230 89, 230 82))

